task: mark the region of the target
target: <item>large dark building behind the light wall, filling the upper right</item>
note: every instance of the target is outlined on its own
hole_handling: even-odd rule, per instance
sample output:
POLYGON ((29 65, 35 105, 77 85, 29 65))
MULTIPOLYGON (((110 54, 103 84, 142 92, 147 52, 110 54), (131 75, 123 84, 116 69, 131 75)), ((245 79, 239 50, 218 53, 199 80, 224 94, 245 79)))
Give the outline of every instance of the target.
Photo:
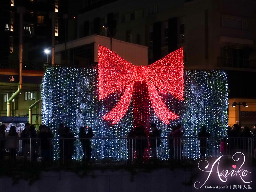
MULTIPOLYGON (((251 126, 256 122, 255 11, 252 0, 85 0, 77 15, 77 37, 111 34, 148 46, 148 64, 184 47, 185 68, 225 70, 229 99, 254 99, 246 109, 254 111, 251 126)), ((230 124, 238 121, 235 114, 230 111, 230 124)))

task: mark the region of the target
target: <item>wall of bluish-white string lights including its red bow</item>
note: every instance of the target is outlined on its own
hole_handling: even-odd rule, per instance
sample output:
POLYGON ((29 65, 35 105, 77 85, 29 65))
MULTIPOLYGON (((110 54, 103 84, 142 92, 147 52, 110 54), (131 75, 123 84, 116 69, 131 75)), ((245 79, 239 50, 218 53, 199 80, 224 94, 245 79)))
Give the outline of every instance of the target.
MULTIPOLYGON (((162 130, 161 137, 168 137, 171 126, 178 123, 186 128, 184 137, 196 137, 202 125, 207 126, 212 137, 225 136, 228 124, 225 73, 184 71, 182 61, 177 66, 166 64, 167 60, 177 62, 181 54, 182 50, 150 66, 136 67, 110 50, 102 49, 99 62, 112 63, 109 68, 105 66, 98 71, 48 68, 41 85, 43 124, 53 130, 56 138, 61 122, 69 126, 76 137, 80 126, 92 127, 94 138, 99 138, 92 139, 92 157, 96 160, 126 160, 126 140, 122 138, 139 125, 145 126, 148 133, 147 125, 156 123, 162 130)), ((57 140, 54 144, 55 159, 58 159, 57 140)), ((210 141, 210 145, 213 148, 216 143, 210 141)), ((211 154, 218 153, 210 150, 211 154)), ((198 151, 198 143, 184 140, 186 156, 196 159, 198 151)), ((168 140, 161 142, 158 153, 159 158, 168 159, 168 140)), ((79 140, 73 158, 82 158, 79 140)))

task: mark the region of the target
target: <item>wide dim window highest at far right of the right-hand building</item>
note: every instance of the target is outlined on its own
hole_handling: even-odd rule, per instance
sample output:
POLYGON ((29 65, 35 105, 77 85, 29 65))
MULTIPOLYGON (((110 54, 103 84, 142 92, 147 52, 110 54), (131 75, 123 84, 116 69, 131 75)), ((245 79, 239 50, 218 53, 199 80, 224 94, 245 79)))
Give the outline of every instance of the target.
POLYGON ((220 26, 224 28, 247 30, 247 21, 242 19, 234 19, 228 17, 221 17, 220 26))

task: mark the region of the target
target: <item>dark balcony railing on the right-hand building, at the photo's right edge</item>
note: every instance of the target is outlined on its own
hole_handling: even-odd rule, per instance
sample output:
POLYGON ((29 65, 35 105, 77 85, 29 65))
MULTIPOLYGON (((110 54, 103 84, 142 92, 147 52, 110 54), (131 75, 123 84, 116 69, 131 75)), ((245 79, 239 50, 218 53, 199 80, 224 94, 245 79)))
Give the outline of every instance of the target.
POLYGON ((256 60, 218 57, 217 67, 256 69, 256 60))

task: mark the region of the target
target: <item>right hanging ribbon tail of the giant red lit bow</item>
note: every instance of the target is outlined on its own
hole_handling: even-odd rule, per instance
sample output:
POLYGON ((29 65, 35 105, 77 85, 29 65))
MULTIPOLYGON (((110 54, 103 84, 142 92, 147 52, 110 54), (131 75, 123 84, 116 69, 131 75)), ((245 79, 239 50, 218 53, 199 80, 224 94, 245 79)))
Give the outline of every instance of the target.
POLYGON ((155 86, 151 82, 147 82, 148 84, 148 93, 151 101, 151 105, 156 113, 156 115, 165 123, 170 124, 169 120, 174 120, 179 118, 179 116, 173 112, 171 112, 162 101, 158 92, 156 91, 155 86))

